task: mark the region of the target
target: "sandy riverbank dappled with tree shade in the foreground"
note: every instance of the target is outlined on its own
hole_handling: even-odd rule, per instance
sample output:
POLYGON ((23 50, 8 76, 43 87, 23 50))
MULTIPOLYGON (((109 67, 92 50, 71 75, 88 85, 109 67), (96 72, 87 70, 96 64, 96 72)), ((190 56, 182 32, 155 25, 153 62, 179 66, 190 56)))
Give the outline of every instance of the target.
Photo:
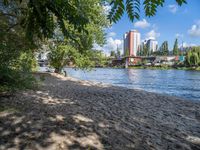
POLYGON ((200 149, 200 103, 56 74, 1 97, 0 149, 200 149))

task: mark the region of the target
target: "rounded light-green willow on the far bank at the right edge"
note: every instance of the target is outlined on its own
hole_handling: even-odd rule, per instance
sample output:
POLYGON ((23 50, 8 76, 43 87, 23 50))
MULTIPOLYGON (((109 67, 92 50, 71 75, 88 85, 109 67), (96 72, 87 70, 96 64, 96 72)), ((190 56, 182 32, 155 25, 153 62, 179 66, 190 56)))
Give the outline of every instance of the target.
POLYGON ((192 47, 186 54, 185 64, 187 66, 200 66, 200 47, 192 47))

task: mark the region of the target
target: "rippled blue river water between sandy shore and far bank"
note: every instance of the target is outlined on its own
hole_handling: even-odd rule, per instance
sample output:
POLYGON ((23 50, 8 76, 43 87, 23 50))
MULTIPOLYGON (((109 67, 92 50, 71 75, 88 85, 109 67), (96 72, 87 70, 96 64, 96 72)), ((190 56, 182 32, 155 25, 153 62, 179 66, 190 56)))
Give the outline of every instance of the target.
POLYGON ((200 72, 183 70, 103 69, 90 72, 66 69, 69 76, 127 88, 200 100, 200 72))

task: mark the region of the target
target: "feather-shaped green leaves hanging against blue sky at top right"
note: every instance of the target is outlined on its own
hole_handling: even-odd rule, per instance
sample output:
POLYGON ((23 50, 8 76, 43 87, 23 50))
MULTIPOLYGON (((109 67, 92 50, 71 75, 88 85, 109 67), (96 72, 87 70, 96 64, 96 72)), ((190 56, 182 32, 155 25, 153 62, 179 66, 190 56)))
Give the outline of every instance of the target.
MULTIPOLYGON (((145 11, 145 15, 150 17, 154 16, 159 6, 163 6, 165 0, 107 0, 112 6, 111 11, 108 15, 109 19, 113 22, 117 22, 124 12, 128 14, 131 21, 140 18, 141 5, 145 11)), ((186 0, 176 0, 176 3, 181 6, 186 3, 186 0)))

